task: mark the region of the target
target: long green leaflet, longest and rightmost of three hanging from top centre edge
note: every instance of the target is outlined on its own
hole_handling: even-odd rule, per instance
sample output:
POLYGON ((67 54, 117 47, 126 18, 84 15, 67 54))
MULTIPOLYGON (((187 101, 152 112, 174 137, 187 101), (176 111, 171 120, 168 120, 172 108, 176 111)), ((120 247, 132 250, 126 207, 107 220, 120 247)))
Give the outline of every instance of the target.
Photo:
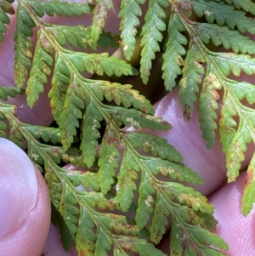
POLYGON ((145 24, 141 31, 141 60, 140 73, 144 84, 147 84, 150 77, 151 60, 156 58, 156 52, 160 51, 159 42, 163 37, 161 31, 166 30, 166 24, 162 20, 166 14, 162 8, 167 8, 167 0, 150 0, 149 8, 145 14, 145 24))

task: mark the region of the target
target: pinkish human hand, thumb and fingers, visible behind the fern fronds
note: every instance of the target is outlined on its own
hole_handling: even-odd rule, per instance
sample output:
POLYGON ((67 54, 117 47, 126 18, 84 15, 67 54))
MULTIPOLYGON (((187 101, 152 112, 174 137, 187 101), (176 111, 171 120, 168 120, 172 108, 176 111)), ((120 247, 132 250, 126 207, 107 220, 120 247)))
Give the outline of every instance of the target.
MULTIPOLYGON (((115 13, 111 15, 111 19, 112 25, 117 25, 115 13)), ((111 26, 110 23, 109 26, 111 26)), ((112 29, 116 30, 117 28, 111 26, 112 29)), ((0 66, 4 68, 7 68, 6 60, 9 60, 8 54, 13 54, 11 38, 11 35, 8 34, 1 48, 5 54, 4 56, 6 56, 6 59, 0 60, 0 66)), ((8 70, 11 71, 13 62, 9 62, 8 65, 8 70)), ((1 78, 3 79, 1 82, 4 84, 6 82, 13 84, 12 74, 8 73, 8 77, 1 78)), ((20 106, 24 105, 22 109, 18 108, 17 111, 18 117, 23 122, 48 125, 52 121, 52 117, 50 110, 45 109, 48 106, 45 103, 47 92, 43 94, 41 99, 32 111, 26 108, 26 101, 23 97, 15 98, 12 103, 20 106), (37 117, 42 111, 42 106, 44 118, 38 119, 37 117)), ((217 142, 212 150, 208 151, 206 149, 206 145, 201 139, 197 113, 195 113, 190 122, 183 121, 176 89, 156 104, 155 108, 157 116, 163 117, 173 125, 173 129, 169 132, 157 134, 167 138, 168 142, 174 145, 184 156, 185 164, 204 179, 205 185, 196 186, 196 190, 201 191, 205 196, 212 195, 209 199, 212 199, 210 201, 214 202, 216 207, 215 217, 219 221, 217 232, 229 243, 230 250, 228 255, 251 255, 254 250, 251 225, 253 214, 251 213, 247 218, 244 218, 240 210, 241 189, 244 185, 245 175, 241 174, 241 177, 233 185, 224 185, 226 180, 225 162, 221 146, 217 142), (245 226, 244 234, 241 233, 243 226, 245 226)), ((246 168, 247 162, 251 159, 252 150, 250 149, 246 153, 246 162, 243 163, 242 169, 246 168)), ((1 227, 6 229, 2 234, 2 239, 0 239, 0 251, 3 255, 7 256, 40 255, 48 234, 50 218, 47 186, 43 182, 41 174, 37 171, 34 172, 34 168, 31 166, 31 162, 27 161, 25 154, 14 145, 3 140, 0 141, 0 161, 4 163, 0 173, 2 182, 0 189, 3 188, 4 190, 1 191, 1 196, 5 195, 3 200, 1 199, 5 203, 5 206, 3 205, 0 208, 1 211, 3 209, 3 213, 1 213, 3 225, 1 224, 1 227), (16 179, 12 179, 14 182, 12 185, 9 183, 10 177, 7 176, 10 169, 17 170, 17 173, 15 173, 16 179), (18 172, 19 169, 20 171, 18 172), (31 179, 31 185, 27 185, 27 180, 29 179, 31 179), (7 189, 6 185, 8 185, 7 189), (26 190, 24 190, 24 186, 26 186, 26 190), (23 191, 24 196, 31 196, 29 199, 26 197, 26 205, 24 205, 23 200, 20 200, 22 198, 21 193, 15 192, 14 188, 15 191, 23 191), (7 196, 9 198, 8 202, 6 202, 7 196), (13 206, 8 211, 6 210, 7 203, 8 206, 13 206), (21 217, 20 212, 23 212, 21 217)), ((167 251, 167 242, 162 242, 161 248, 167 251)), ((43 252, 48 252, 47 256, 77 255, 74 249, 71 253, 63 251, 59 243, 58 230, 54 226, 50 230, 43 252)))

